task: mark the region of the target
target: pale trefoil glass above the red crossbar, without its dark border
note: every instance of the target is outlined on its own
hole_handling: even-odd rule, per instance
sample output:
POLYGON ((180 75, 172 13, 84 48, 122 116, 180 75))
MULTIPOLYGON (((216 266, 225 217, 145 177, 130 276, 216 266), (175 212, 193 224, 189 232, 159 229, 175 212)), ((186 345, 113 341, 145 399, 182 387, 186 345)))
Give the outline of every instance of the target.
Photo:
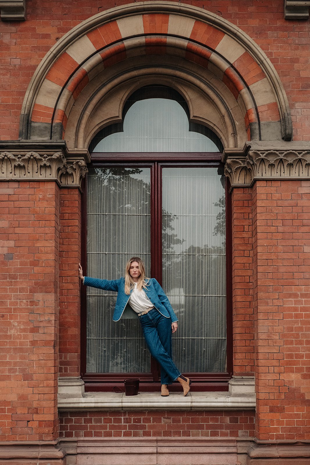
POLYGON ((218 147, 204 134, 189 130, 177 101, 160 98, 136 101, 125 115, 123 132, 108 135, 92 151, 218 152, 218 147))

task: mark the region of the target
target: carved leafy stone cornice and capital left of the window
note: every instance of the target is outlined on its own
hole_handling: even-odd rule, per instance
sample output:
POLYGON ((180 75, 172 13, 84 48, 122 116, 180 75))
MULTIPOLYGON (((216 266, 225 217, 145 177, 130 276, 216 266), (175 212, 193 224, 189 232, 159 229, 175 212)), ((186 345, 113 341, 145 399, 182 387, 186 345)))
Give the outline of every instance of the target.
POLYGON ((89 161, 84 152, 69 152, 64 142, 1 142, 0 180, 55 180, 62 187, 80 187, 89 161))

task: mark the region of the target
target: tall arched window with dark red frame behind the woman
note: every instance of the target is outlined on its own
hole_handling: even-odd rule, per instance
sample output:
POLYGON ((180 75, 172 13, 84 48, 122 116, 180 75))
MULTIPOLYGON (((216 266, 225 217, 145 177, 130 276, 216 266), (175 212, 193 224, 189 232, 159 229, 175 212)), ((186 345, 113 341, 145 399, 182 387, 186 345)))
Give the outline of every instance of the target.
MULTIPOLYGON (((104 111, 104 109, 103 109, 104 111)), ((226 344, 226 214, 222 144, 189 122, 183 97, 168 87, 139 89, 123 121, 90 144, 87 275, 118 279, 131 256, 164 288, 178 318, 174 360, 197 382, 230 377, 226 344)), ((158 382, 139 320, 127 307, 112 321, 115 293, 87 288, 84 380, 117 382, 139 373, 158 382)))

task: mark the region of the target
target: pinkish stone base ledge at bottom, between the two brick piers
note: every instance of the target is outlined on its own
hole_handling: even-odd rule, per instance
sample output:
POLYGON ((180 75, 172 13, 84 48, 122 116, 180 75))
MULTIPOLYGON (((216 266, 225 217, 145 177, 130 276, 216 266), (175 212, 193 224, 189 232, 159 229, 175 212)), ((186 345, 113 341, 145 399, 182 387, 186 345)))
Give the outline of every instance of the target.
POLYGON ((245 465, 251 438, 64 438, 68 463, 245 465))

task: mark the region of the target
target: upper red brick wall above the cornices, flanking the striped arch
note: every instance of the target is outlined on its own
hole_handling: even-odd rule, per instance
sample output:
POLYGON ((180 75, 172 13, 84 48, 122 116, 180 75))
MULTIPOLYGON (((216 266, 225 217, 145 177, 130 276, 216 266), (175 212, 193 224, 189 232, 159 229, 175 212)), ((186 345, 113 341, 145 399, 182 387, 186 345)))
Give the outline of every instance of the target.
MULTIPOLYGON (((177 0, 175 0, 177 1, 177 0)), ((18 139, 26 88, 40 60, 55 42, 81 21, 124 5, 124 0, 27 0, 26 21, 0 26, 0 139, 18 139)), ((127 3, 131 3, 129 0, 127 3)), ((283 0, 191 0, 240 27, 264 50, 287 93, 295 140, 310 138, 309 21, 284 20, 283 0)))

